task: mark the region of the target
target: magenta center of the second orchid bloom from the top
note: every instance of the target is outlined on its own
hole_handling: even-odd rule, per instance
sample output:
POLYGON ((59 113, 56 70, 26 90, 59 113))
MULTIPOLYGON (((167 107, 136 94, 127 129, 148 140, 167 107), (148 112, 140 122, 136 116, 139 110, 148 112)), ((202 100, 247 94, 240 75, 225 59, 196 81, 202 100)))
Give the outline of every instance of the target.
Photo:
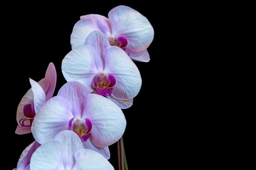
POLYGON ((111 95, 115 85, 115 76, 112 74, 105 75, 103 72, 100 72, 97 76, 95 76, 93 82, 94 90, 101 96, 111 95))

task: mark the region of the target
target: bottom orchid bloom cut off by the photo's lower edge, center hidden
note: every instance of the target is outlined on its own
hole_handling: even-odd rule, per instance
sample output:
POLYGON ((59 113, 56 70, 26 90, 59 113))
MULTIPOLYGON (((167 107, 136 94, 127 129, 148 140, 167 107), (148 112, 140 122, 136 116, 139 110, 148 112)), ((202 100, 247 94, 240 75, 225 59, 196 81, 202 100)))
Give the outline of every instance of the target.
POLYGON ((114 170, 101 154, 84 149, 78 135, 62 131, 32 155, 30 170, 114 170))

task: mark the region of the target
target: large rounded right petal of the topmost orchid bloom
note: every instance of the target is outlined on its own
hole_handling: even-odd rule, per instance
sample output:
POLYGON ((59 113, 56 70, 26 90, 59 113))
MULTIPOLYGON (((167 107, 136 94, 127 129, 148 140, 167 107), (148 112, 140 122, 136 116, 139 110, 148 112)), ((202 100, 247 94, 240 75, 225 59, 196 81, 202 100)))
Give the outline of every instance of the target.
POLYGON ((117 6, 108 13, 112 35, 127 39, 132 51, 146 50, 154 38, 154 29, 148 19, 128 6, 117 6))

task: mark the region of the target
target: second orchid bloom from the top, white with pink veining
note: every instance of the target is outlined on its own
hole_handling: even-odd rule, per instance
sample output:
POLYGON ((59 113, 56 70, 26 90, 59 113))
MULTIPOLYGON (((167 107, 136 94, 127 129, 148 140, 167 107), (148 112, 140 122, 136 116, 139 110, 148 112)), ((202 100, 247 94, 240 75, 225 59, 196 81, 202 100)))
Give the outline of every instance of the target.
POLYGON ((110 46, 99 31, 89 34, 85 45, 65 56, 62 73, 68 82, 79 81, 90 92, 107 97, 121 109, 131 107, 141 87, 136 65, 123 50, 110 46))

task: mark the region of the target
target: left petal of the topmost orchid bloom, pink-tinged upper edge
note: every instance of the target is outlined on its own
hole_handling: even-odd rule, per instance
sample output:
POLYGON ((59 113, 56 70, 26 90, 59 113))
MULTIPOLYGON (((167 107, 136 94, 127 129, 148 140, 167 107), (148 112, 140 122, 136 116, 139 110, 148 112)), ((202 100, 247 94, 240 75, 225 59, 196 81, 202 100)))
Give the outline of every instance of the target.
POLYGON ((70 43, 72 49, 83 45, 87 36, 95 30, 100 31, 105 35, 110 35, 111 27, 109 19, 96 14, 81 16, 80 20, 75 24, 71 34, 70 43))

